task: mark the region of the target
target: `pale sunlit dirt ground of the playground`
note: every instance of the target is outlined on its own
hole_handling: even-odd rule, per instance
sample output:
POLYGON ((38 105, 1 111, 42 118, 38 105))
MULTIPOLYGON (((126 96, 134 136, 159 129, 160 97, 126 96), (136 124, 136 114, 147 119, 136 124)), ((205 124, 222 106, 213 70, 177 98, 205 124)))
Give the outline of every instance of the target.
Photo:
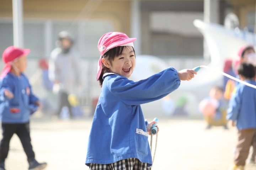
MULTIPOLYGON (((32 118, 31 138, 38 162, 47 162, 47 170, 87 170, 84 163, 91 120, 32 118)), ((205 130, 205 126, 203 120, 159 118, 153 170, 228 170, 233 164, 236 129, 205 130)), ((28 168, 16 135, 12 137, 5 164, 7 170, 28 168)), ((245 168, 255 169, 252 164, 245 168)))

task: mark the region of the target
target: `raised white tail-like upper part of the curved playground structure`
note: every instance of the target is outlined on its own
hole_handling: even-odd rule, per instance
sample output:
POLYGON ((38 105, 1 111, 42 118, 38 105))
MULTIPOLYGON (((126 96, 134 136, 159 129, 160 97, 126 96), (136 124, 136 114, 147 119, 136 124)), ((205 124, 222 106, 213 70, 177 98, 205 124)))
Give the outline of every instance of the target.
POLYGON ((206 23, 199 19, 194 20, 194 26, 203 34, 207 42, 211 57, 211 65, 223 68, 226 58, 237 57, 241 46, 255 44, 255 35, 240 31, 240 29, 226 29, 219 24, 206 23))

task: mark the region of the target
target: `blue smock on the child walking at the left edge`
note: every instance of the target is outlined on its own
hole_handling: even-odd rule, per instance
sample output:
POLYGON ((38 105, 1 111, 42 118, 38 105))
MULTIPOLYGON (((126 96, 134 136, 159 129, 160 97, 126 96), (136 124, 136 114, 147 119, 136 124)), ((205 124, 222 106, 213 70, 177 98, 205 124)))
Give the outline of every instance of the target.
POLYGON ((27 77, 19 77, 8 73, 0 80, 0 118, 3 123, 27 123, 30 115, 37 110, 34 103, 38 98, 33 95, 27 77), (4 90, 7 89, 14 98, 7 98, 4 90))

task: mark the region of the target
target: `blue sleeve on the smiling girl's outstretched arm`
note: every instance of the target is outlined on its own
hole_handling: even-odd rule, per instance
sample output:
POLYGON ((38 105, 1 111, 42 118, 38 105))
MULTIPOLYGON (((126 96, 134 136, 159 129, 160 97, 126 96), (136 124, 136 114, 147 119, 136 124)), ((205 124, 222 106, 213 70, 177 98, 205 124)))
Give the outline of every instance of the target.
POLYGON ((180 86, 177 70, 172 67, 137 82, 121 76, 108 80, 107 84, 111 93, 127 105, 139 105, 159 100, 180 86))

